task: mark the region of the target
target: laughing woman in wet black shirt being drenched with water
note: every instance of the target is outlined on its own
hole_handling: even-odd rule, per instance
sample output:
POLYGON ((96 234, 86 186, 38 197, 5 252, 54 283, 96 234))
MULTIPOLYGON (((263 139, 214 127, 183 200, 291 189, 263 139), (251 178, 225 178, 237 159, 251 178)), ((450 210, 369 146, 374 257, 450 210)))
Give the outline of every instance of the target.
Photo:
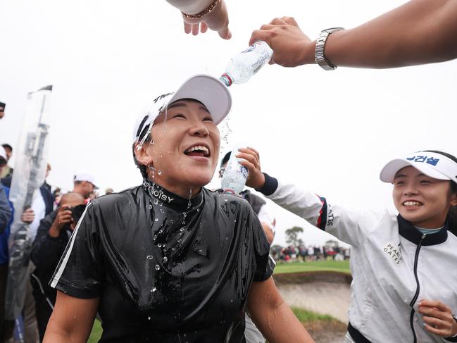
POLYGON ((96 198, 56 268, 44 342, 242 343, 246 306, 270 342, 313 342, 284 304, 262 226, 240 197, 206 189, 231 97, 196 75, 137 120, 144 182, 96 198))

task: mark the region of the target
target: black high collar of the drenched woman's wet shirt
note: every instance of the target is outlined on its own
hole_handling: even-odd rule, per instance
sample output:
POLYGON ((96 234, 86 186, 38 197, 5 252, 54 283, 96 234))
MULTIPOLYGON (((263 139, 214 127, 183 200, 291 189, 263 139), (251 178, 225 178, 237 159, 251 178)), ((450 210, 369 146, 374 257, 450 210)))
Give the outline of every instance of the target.
POLYGON ((144 180, 143 189, 144 192, 149 194, 149 197, 154 199, 154 204, 163 204, 177 210, 188 211, 192 208, 199 207, 203 202, 202 191, 191 199, 185 199, 179 195, 169 192, 167 189, 157 185, 155 182, 151 182, 150 180, 144 180))

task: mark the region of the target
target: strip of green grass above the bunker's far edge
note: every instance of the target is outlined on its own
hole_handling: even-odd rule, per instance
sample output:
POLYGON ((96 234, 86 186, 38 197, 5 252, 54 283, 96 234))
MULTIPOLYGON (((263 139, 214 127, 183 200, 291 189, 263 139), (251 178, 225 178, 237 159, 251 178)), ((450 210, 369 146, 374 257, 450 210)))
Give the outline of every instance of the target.
POLYGON ((349 260, 277 263, 275 267, 275 274, 315 271, 334 271, 348 274, 351 273, 351 270, 349 269, 349 260))

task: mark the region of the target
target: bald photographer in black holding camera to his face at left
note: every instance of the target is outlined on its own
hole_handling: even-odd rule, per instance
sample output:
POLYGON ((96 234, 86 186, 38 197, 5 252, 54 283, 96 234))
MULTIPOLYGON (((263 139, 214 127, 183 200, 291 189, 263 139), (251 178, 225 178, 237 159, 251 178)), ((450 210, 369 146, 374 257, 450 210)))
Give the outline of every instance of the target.
POLYGON ((36 268, 31 275, 31 282, 41 340, 56 304, 57 291, 50 287, 48 282, 65 251, 77 220, 84 211, 84 200, 81 194, 75 192, 63 194, 59 208, 41 221, 32 245, 30 258, 36 268))

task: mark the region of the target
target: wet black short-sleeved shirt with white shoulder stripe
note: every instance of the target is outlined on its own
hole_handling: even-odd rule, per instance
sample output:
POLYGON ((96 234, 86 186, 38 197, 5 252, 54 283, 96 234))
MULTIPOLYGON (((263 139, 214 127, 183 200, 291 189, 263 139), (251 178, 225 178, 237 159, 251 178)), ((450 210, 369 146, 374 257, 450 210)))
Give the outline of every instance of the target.
POLYGON ((100 297, 101 342, 239 343, 251 282, 273 273, 268 251, 244 199, 144 185, 87 205, 51 285, 100 297))

